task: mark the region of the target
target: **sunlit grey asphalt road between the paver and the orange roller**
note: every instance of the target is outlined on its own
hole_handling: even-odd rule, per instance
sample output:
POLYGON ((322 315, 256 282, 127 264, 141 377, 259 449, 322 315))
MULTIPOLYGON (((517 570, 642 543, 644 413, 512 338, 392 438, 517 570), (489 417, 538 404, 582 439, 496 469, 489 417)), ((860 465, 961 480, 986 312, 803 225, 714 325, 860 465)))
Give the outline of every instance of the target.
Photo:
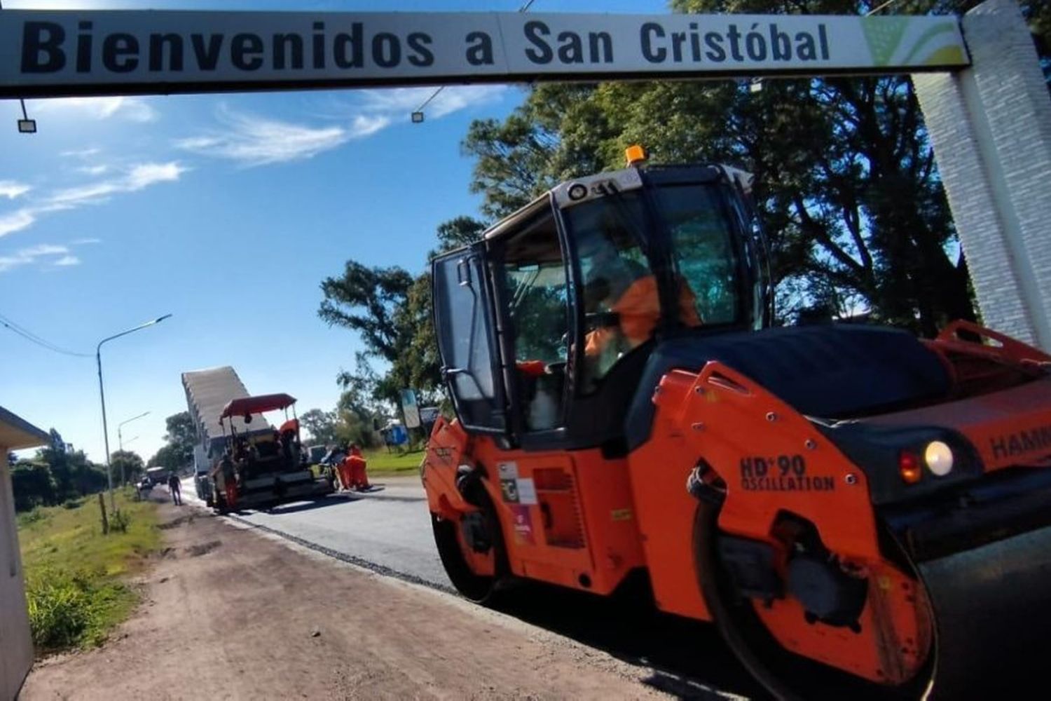
MULTIPOLYGON (((434 547, 419 478, 377 477, 373 482, 384 489, 294 501, 268 512, 245 510, 238 517, 351 561, 451 589, 434 547)), ((183 480, 183 496, 197 501, 192 478, 183 480)))

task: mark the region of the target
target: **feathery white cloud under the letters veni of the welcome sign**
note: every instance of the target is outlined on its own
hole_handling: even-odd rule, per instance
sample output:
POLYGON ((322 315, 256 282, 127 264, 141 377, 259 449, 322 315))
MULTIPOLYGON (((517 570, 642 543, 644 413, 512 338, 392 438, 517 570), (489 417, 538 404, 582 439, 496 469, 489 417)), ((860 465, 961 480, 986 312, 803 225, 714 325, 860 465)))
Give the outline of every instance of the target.
MULTIPOLYGON (((178 148, 260 166, 313 158, 350 139, 374 132, 373 123, 342 126, 307 126, 275 119, 220 110, 222 130, 213 130, 176 142, 178 148)), ((383 128, 382 126, 378 128, 383 128)))

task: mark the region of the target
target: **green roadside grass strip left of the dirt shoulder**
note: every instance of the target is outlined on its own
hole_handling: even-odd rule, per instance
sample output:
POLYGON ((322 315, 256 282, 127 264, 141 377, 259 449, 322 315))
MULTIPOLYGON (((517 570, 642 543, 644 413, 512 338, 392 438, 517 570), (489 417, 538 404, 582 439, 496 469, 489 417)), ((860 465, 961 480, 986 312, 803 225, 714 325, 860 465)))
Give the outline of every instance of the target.
POLYGON ((38 654, 91 647, 127 618, 139 595, 126 579, 160 549, 157 504, 117 493, 126 531, 102 535, 98 497, 20 514, 29 625, 38 654))

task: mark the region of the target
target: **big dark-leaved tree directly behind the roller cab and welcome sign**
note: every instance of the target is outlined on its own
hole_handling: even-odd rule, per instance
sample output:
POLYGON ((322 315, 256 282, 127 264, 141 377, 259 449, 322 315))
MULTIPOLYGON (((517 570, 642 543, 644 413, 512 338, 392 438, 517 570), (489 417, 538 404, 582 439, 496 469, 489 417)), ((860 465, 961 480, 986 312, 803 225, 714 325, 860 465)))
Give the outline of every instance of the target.
MULTIPOLYGON (((974 2, 912 2, 895 12, 962 12, 974 2)), ((691 13, 863 14, 848 0, 674 0, 691 13)), ((1046 43, 1051 3, 1024 12, 1046 43)), ((926 334, 973 318, 959 242, 919 103, 906 77, 541 85, 502 123, 472 124, 472 190, 503 217, 554 183, 622 167, 623 148, 654 161, 717 161, 754 172, 785 315, 820 305, 926 334)))

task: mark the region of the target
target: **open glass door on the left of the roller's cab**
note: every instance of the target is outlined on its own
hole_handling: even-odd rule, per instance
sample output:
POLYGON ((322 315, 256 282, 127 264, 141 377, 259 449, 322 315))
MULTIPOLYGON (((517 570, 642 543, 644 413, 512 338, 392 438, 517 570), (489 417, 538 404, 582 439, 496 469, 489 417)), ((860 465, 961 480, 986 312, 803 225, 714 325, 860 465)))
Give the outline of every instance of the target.
POLYGON ((482 244, 435 259, 432 277, 441 375, 456 416, 469 431, 504 434, 507 394, 482 244))

